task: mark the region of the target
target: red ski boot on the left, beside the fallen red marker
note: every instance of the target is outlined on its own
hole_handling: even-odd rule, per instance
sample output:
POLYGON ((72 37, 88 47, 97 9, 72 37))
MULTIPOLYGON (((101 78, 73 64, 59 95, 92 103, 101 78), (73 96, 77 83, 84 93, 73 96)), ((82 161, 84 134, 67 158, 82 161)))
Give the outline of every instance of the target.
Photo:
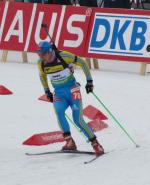
POLYGON ((62 150, 77 150, 77 146, 71 137, 70 133, 63 134, 66 144, 62 147, 62 150))

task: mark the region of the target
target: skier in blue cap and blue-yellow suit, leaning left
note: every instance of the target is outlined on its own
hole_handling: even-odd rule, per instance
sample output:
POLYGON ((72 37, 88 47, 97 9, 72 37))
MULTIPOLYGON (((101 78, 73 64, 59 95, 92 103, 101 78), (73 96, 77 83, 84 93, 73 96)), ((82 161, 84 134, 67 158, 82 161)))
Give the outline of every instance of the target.
POLYGON ((103 147, 99 144, 93 131, 83 119, 80 85, 74 77, 73 65, 80 66, 84 71, 87 80, 85 86, 87 93, 93 92, 93 80, 90 70, 84 60, 66 51, 56 51, 54 46, 47 41, 42 41, 38 44, 38 69, 45 94, 50 102, 53 102, 58 123, 66 141, 62 150, 77 150, 65 117, 65 111, 70 106, 74 123, 91 142, 95 154, 97 156, 102 155, 104 154, 103 147), (47 77, 51 81, 54 93, 50 91, 47 77))

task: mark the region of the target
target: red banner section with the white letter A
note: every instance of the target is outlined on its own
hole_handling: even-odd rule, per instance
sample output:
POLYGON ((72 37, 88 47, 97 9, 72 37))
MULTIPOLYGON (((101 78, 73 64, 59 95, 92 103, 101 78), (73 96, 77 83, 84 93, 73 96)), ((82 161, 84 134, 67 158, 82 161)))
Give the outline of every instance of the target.
POLYGON ((5 25, 2 31, 1 49, 23 51, 27 40, 33 5, 6 3, 5 25), (8 9, 7 9, 8 5, 8 9))

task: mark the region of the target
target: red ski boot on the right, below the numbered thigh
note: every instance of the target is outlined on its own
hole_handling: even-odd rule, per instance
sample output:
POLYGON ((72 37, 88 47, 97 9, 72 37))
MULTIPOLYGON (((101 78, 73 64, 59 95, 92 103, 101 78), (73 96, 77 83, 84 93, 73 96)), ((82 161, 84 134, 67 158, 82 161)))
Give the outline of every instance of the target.
POLYGON ((104 149, 103 147, 99 144, 96 138, 91 140, 91 145, 95 151, 96 156, 100 156, 104 154, 104 149))

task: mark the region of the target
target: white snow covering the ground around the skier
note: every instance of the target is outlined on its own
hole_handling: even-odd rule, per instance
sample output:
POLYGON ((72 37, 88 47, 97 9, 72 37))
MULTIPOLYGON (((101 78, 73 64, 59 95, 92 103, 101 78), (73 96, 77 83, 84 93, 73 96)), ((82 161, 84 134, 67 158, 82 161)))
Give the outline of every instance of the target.
MULTIPOLYGON (((77 69, 82 84, 83 104, 93 105, 109 119, 109 127, 96 135, 108 154, 91 164, 88 155, 58 154, 26 156, 25 152, 46 152, 61 148, 63 143, 41 147, 22 142, 35 133, 59 130, 50 103, 38 100, 43 89, 35 63, 0 63, 0 85, 13 95, 0 95, 0 184, 1 185, 149 185, 150 178, 150 76, 140 76, 128 68, 92 70, 94 92, 140 145, 136 148, 120 127, 106 113, 93 95, 84 90, 85 78, 77 69), (127 71, 128 70, 128 71, 127 71)), ((122 66, 121 66, 122 67, 122 66)), ((136 71, 136 72, 135 72, 136 71)), ((70 110, 67 115, 71 117, 70 110)), ((83 136, 71 126, 78 148, 89 150, 83 136)))

